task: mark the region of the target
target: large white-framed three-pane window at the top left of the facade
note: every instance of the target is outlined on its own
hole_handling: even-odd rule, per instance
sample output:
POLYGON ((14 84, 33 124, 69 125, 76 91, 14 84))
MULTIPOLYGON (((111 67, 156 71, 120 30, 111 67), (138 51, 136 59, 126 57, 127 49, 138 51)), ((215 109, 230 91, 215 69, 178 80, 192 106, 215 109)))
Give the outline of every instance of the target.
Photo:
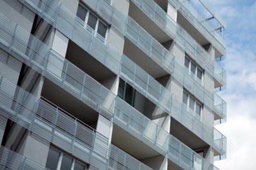
POLYGON ((101 35, 104 39, 106 38, 108 26, 81 4, 77 8, 77 17, 84 21, 85 24, 82 24, 84 24, 87 30, 95 32, 96 35, 101 35))

